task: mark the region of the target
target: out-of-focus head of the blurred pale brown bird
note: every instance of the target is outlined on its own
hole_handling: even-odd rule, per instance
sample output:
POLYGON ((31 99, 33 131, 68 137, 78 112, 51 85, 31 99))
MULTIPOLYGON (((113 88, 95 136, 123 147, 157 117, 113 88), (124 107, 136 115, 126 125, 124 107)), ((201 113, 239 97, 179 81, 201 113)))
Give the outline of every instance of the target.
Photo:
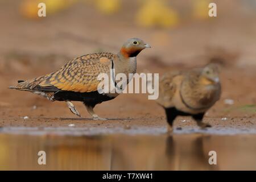
POLYGON ((206 65, 201 72, 201 83, 204 85, 214 85, 220 82, 217 64, 206 65))

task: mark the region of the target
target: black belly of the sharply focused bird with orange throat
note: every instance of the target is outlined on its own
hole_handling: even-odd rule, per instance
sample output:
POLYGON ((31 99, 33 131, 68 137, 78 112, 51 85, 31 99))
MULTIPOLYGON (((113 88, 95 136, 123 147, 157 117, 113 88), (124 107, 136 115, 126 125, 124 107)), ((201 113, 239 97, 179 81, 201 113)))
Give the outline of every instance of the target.
POLYGON ((98 91, 94 92, 72 92, 72 91, 60 91, 54 94, 56 101, 81 101, 87 105, 96 105, 104 101, 112 100, 115 97, 109 97, 106 94, 99 94, 98 91))

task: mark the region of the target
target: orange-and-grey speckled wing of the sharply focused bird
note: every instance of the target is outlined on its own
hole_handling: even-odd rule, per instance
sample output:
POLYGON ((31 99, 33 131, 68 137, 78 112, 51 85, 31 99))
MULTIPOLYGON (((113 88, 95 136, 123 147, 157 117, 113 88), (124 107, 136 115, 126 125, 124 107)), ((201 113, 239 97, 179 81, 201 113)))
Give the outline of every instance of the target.
POLYGON ((35 87, 37 90, 55 92, 58 90, 72 92, 93 92, 97 90, 100 73, 109 73, 115 55, 95 53, 77 57, 65 64, 59 71, 41 78, 35 87))

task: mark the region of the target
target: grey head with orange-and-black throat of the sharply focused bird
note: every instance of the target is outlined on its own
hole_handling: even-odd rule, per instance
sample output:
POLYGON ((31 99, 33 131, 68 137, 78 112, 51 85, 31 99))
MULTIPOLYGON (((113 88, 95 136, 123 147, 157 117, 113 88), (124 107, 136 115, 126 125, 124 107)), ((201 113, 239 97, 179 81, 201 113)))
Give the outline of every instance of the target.
POLYGON ((138 38, 131 38, 127 40, 121 50, 120 53, 123 57, 135 57, 141 52, 144 48, 151 48, 149 44, 143 42, 143 40, 138 38))

